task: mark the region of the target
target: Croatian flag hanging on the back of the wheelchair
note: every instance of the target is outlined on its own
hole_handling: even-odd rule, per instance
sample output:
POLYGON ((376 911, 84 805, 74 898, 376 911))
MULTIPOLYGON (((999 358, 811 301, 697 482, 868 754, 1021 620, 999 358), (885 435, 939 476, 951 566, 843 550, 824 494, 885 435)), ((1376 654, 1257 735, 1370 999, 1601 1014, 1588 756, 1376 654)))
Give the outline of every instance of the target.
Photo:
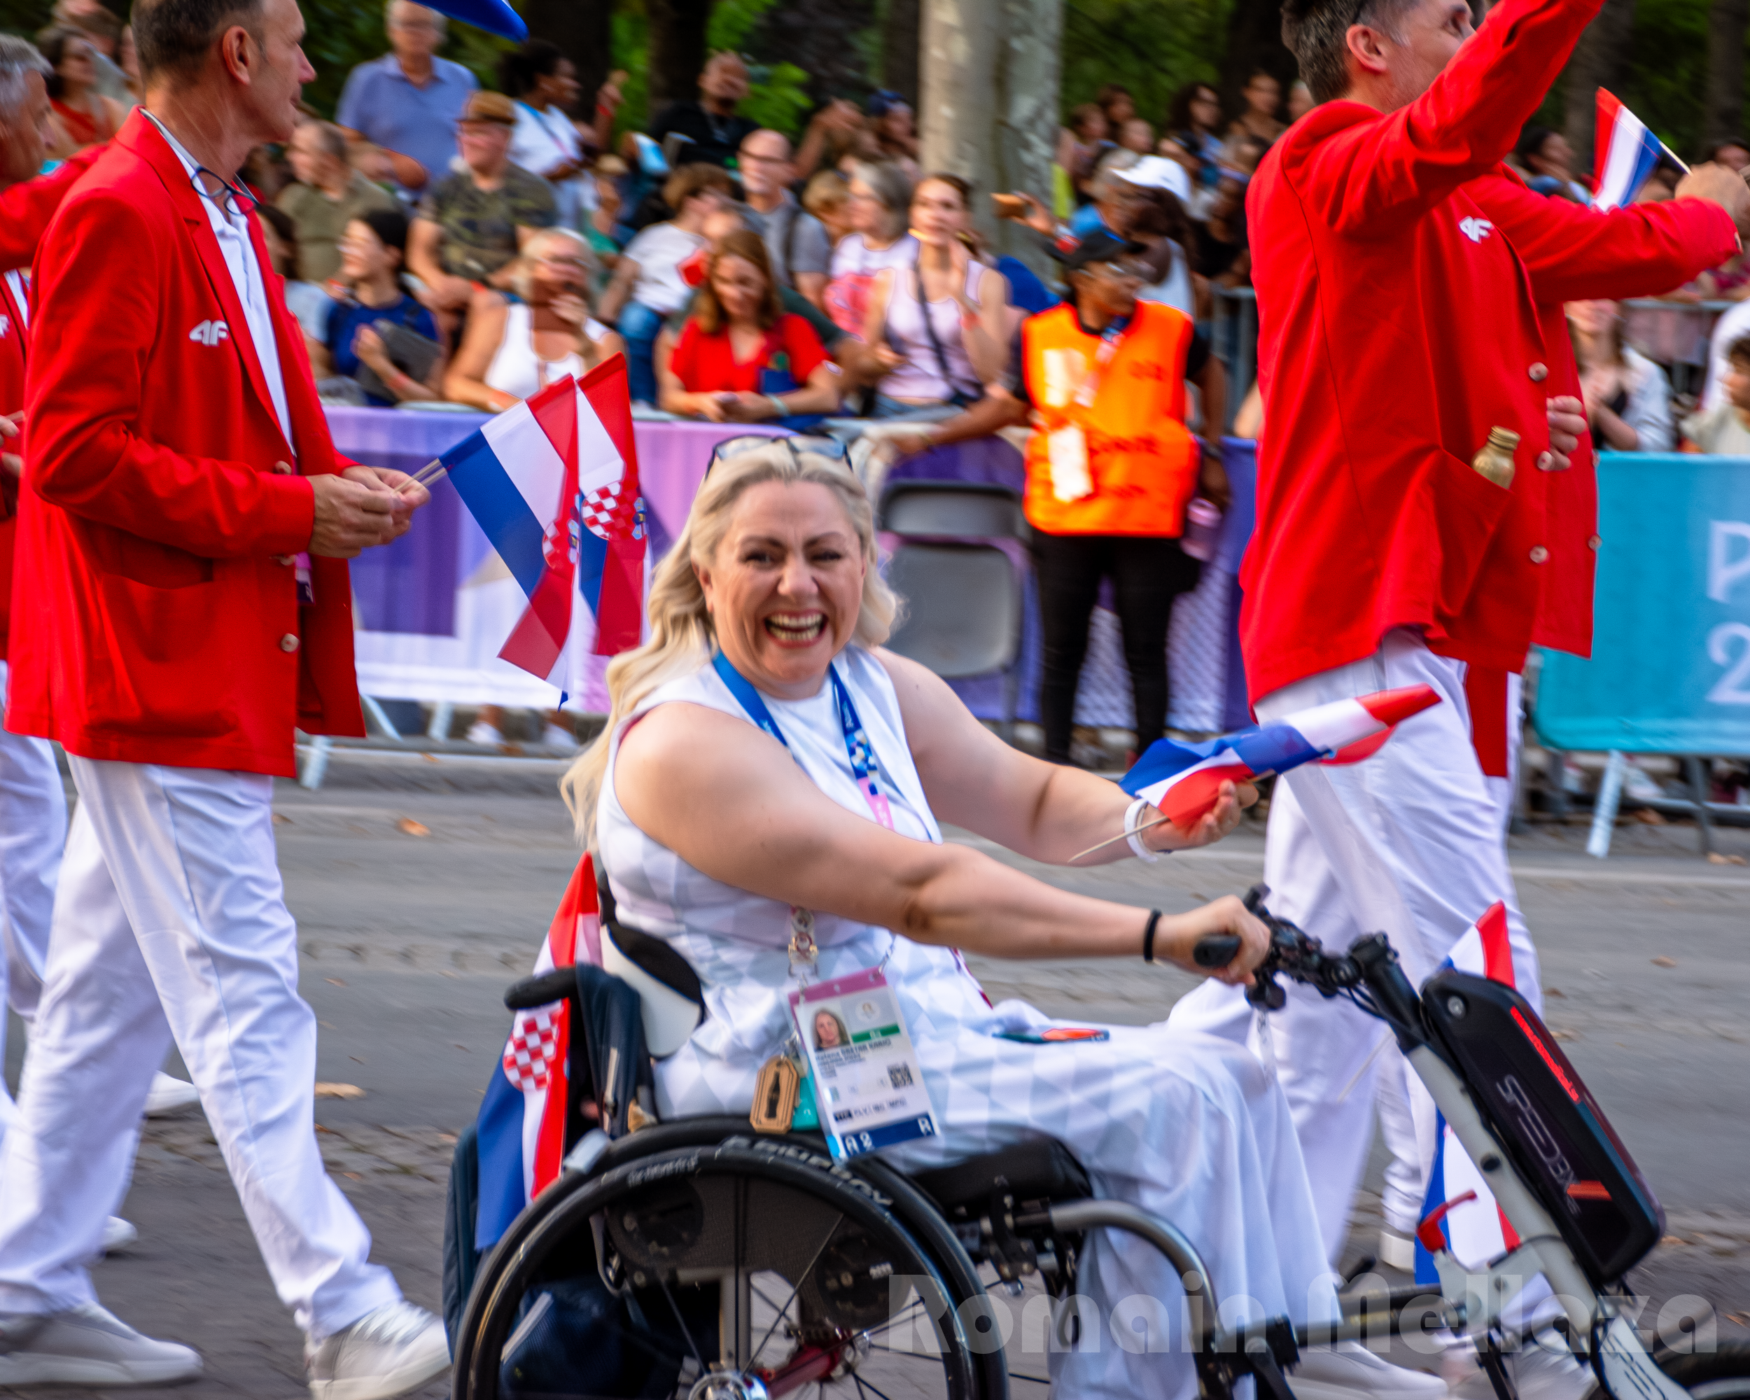
MULTIPOLYGON (((600 962, 600 940, 595 866, 584 856, 558 901, 532 975, 576 966, 579 957, 600 962)), ((569 1003, 516 1013, 474 1125, 480 1160, 476 1250, 497 1244, 523 1206, 558 1176, 565 1157, 569 1050, 569 1003)))

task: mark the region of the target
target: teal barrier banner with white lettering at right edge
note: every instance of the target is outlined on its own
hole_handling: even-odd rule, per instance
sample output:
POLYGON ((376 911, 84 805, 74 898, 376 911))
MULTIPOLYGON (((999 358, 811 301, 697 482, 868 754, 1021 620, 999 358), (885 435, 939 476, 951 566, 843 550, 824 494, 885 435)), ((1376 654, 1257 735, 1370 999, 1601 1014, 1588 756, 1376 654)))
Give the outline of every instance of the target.
POLYGON ((1750 754, 1750 458, 1598 462, 1592 658, 1544 654, 1556 749, 1750 754))

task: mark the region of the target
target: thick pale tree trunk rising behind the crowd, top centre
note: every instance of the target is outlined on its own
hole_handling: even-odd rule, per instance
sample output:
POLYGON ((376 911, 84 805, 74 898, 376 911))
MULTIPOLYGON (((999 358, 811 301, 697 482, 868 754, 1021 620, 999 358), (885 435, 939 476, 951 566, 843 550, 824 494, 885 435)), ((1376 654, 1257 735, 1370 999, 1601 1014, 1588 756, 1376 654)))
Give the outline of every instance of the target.
POLYGON ((924 170, 973 184, 973 220, 999 252, 1041 271, 1038 240, 998 222, 990 194, 1046 203, 1057 152, 1062 0, 924 0, 919 103, 924 170))

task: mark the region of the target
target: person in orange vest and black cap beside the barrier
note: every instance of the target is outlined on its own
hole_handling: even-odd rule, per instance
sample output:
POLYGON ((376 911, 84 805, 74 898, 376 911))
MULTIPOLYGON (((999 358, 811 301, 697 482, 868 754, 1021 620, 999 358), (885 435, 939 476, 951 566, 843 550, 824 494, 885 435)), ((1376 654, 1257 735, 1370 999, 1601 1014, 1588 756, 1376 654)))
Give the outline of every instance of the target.
POLYGON ((1108 578, 1130 672, 1136 751, 1166 733, 1167 623, 1200 567, 1180 548, 1185 506, 1199 490, 1227 504, 1227 374, 1190 317, 1138 301, 1150 278, 1143 252, 1104 229, 1083 238, 1064 256, 1074 301, 1020 324, 1010 383, 894 444, 943 446, 1031 416, 1024 508, 1045 632, 1040 721, 1045 756, 1055 763, 1069 763, 1088 621, 1108 578), (1200 443, 1185 425, 1186 382, 1202 401, 1200 443))

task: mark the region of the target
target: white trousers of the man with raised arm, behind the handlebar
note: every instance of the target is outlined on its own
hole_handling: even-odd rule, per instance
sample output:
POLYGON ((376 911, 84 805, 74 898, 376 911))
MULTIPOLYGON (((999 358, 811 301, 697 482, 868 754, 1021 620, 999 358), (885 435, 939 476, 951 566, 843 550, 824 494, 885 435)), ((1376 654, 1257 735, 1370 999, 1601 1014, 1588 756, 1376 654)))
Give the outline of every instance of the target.
MULTIPOLYGON (((1435 656, 1419 632, 1400 628, 1372 656, 1284 686, 1256 710, 1264 721, 1281 719, 1309 705, 1412 684, 1433 686, 1442 704, 1400 724, 1377 754, 1354 765, 1307 765, 1276 784, 1264 854, 1270 910, 1326 948, 1386 933, 1419 985, 1502 900, 1519 990, 1538 1006, 1536 952, 1507 868, 1503 808, 1470 744, 1465 665, 1435 656)), ((1251 1040, 1267 1062, 1274 1060, 1334 1262, 1367 1167, 1384 1074, 1395 1090, 1382 1115, 1395 1157, 1388 1214, 1398 1228, 1414 1225, 1433 1164, 1433 1104, 1379 1020, 1290 987, 1288 1004, 1269 1017, 1264 1045, 1242 992, 1206 982, 1180 1001, 1171 1024, 1251 1040)))

